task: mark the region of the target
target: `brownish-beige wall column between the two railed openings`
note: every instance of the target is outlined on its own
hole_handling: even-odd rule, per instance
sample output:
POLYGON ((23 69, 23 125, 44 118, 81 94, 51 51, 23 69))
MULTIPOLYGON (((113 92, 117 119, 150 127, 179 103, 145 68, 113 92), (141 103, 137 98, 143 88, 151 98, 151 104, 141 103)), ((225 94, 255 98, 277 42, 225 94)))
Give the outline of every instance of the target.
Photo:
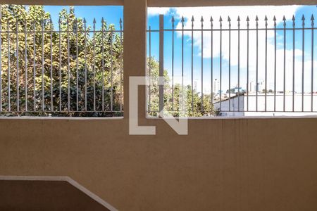
MULTIPOLYGON (((129 117, 129 77, 147 68, 147 0, 124 1, 124 117, 129 117)), ((139 119, 145 117, 145 87, 139 87, 139 119)), ((127 124, 128 127, 128 124, 127 124)))

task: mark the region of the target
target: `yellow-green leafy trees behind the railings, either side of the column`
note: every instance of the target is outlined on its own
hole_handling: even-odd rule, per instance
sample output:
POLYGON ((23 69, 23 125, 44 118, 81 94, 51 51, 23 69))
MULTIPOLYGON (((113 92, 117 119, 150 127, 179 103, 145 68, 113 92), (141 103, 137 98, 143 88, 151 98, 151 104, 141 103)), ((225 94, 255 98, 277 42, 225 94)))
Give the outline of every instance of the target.
MULTIPOLYGON (((88 26, 73 7, 59 13, 57 26, 43 6, 3 5, 1 13, 1 115, 106 116, 122 108, 123 34, 113 32, 114 25, 101 20, 99 29, 88 26)), ((154 58, 148 58, 149 69, 159 76, 154 58)), ((164 77, 170 81, 167 70, 164 77)), ((204 94, 201 110, 200 94, 180 84, 164 87, 165 110, 180 115, 182 91, 185 115, 215 115, 211 96, 204 94)), ((157 116, 159 86, 151 86, 149 96, 150 115, 157 116)))

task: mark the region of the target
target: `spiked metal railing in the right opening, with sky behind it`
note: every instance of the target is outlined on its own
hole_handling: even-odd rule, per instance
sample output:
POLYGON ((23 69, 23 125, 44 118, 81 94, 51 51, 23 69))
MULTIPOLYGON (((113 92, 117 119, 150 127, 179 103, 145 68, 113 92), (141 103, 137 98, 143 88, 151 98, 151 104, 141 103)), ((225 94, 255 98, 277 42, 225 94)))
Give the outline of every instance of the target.
POLYGON ((180 111, 178 106, 175 108, 176 84, 185 87, 189 93, 189 116, 213 116, 223 113, 244 115, 251 112, 317 112, 317 86, 314 79, 316 27, 313 15, 310 20, 305 20, 302 15, 300 22, 295 20, 293 15, 290 20, 292 27, 287 27, 289 23, 285 16, 280 23, 277 23, 275 16, 271 22, 265 16, 264 27, 259 27, 258 16, 254 20, 254 27, 251 27, 249 17, 245 21, 237 17, 237 27, 232 27, 230 17, 226 27, 221 17, 218 27, 214 27, 216 21, 213 17, 210 17, 207 27, 204 18, 201 17, 199 28, 194 28, 194 17, 191 20, 182 17, 178 23, 175 23, 175 18, 172 17, 171 28, 164 27, 163 15, 160 15, 159 20, 159 29, 153 30, 149 26, 147 30, 148 74, 153 75, 151 60, 155 58, 152 56, 152 45, 156 45, 159 49, 159 53, 156 53, 160 66, 159 76, 162 77, 163 70, 166 70, 165 75, 172 77, 172 80, 170 85, 160 91, 154 91, 154 87, 149 87, 149 113, 157 115, 157 112, 163 109, 172 113, 180 111), (190 23, 191 28, 188 28, 190 23), (151 37, 157 33, 160 37, 159 43, 154 43, 151 37), (206 41, 208 47, 204 46, 206 41), (168 50, 166 47, 164 49, 164 46, 168 50), (196 49, 198 53, 195 53, 196 49), (209 56, 204 56, 205 53, 209 56), (176 56, 178 60, 175 59, 176 56), (232 60, 235 60, 234 64, 232 60), (176 84, 173 80, 177 75, 175 69, 180 70, 178 76, 183 78, 182 82, 176 84), (197 81, 195 82, 195 75, 199 77, 199 88, 197 81), (237 85, 234 85, 235 83, 237 85), (209 87, 208 91, 204 91, 206 87, 209 87), (161 100, 155 102, 153 99, 157 96, 161 100), (195 101, 195 96, 199 96, 200 100, 195 101), (151 105, 154 103, 156 106, 151 105))

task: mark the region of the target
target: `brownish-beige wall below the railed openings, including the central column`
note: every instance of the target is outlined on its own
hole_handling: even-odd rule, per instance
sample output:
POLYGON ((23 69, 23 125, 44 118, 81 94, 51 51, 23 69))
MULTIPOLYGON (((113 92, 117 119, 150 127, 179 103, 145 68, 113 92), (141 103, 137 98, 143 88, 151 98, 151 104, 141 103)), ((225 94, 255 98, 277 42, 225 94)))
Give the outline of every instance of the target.
MULTIPOLYGON (((189 120, 128 135, 128 77, 145 72, 145 0, 125 1, 125 119, 0 119, 0 175, 68 176, 118 210, 317 210, 316 118, 189 120)), ((1 199, 0 199, 1 200, 1 199)))

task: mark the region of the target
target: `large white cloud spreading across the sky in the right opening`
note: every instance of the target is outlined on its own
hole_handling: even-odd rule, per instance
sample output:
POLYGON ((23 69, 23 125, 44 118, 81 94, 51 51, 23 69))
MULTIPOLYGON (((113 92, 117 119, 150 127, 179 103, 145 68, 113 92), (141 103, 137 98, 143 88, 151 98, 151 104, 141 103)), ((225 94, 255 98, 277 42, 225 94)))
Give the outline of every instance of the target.
MULTIPOLYGON (((211 29, 210 17, 213 16, 213 28, 219 29, 219 18, 220 15, 223 19, 223 29, 228 29, 228 16, 231 19, 231 27, 237 29, 237 17, 240 15, 241 19, 241 28, 245 29, 247 27, 247 16, 249 16, 250 22, 249 27, 251 29, 256 28, 256 15, 259 18, 259 28, 265 27, 264 18, 267 15, 268 18, 268 28, 273 28, 273 17, 276 17, 277 25, 282 23, 283 15, 287 20, 292 19, 292 15, 296 13, 300 6, 223 6, 223 7, 199 7, 199 8, 173 8, 173 13, 175 18, 180 20, 183 16, 185 18, 184 28, 191 29, 192 28, 192 16, 194 16, 194 29, 201 29, 201 16, 204 18, 204 29, 211 29)), ((170 11, 168 8, 155 8, 151 12, 154 14, 159 13, 168 13, 170 11)), ((288 23, 290 24, 290 23, 288 23)), ((292 25, 287 25, 292 27, 292 25)), ((170 27, 168 27, 170 28, 170 27)), ((178 22, 176 25, 177 29, 182 28, 182 23, 178 22)), ((191 43, 192 32, 185 31, 185 44, 191 43)), ((272 84, 273 82, 273 75, 274 75, 274 32, 273 30, 268 30, 268 42, 267 42, 267 71, 268 71, 268 85, 272 84)), ((181 32, 177 32, 177 36, 181 36, 181 32)), ((259 30, 258 33, 258 67, 259 67, 259 81, 261 81, 265 76, 265 48, 266 48, 266 37, 265 31, 259 30)), ((290 34, 287 34, 290 36, 290 34)), ((277 39, 283 39, 277 34, 277 39)), ((204 58, 211 58, 211 32, 205 31, 203 35, 204 39, 204 58)), ((201 51, 201 32, 194 32, 193 36, 194 46, 201 51)), ((220 32, 214 31, 213 32, 213 58, 218 59, 220 56, 220 32)), ((231 65, 235 66, 238 63, 238 51, 237 51, 237 31, 231 32, 231 65)), ((278 44, 282 44, 281 40, 278 41, 278 44)), ((286 72, 286 89, 292 89, 292 53, 293 51, 290 49, 286 49, 285 51, 285 72, 286 72)), ((305 52, 306 54, 306 52, 305 52)), ((199 53, 197 56, 200 56, 199 53)), ((229 33, 228 31, 222 32, 222 58, 224 62, 228 62, 229 60, 229 33)), ((307 58, 309 55, 306 55, 307 58)), ((284 51, 283 49, 278 46, 276 51, 276 69, 277 69, 277 90, 283 89, 283 75, 284 75, 284 51)), ((314 61, 316 63, 316 60, 314 61)), ((315 64, 316 65, 316 64, 315 64)), ((247 67, 247 32, 240 31, 240 68, 247 67)), ((223 67, 223 71, 228 71, 223 67)), ((233 68, 232 68, 233 69, 233 68)), ((232 70, 235 71, 235 70, 232 70)), ((250 71, 250 81, 255 81, 255 72, 256 72, 256 32, 250 31, 249 32, 249 71, 250 71)), ((305 60, 304 64, 304 81, 305 81, 305 91, 309 91, 310 87, 310 72, 311 72, 311 61, 305 60)), ((245 87, 245 86, 244 86, 245 87)), ((297 91, 301 91, 302 89, 302 49, 299 46, 295 48, 295 89, 297 91), (298 49, 299 48, 299 49, 298 49)))

